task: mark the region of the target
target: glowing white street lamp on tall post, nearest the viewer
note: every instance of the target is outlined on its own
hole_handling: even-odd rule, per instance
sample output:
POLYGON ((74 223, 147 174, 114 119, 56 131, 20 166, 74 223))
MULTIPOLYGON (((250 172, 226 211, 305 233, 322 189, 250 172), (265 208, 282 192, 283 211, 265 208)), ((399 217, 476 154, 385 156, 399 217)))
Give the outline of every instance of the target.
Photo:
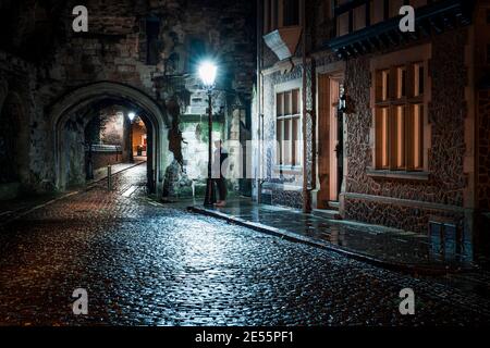
POLYGON ((215 182, 212 181, 212 90, 215 88, 218 67, 210 61, 205 61, 199 65, 199 77, 204 88, 208 94, 208 179, 206 182, 205 206, 216 203, 215 182))

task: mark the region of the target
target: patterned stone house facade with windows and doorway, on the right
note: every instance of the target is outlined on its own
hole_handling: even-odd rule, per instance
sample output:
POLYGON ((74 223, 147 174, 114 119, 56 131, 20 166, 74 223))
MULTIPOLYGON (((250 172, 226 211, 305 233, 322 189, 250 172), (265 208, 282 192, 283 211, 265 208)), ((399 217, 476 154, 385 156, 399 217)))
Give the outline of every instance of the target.
POLYGON ((489 1, 259 2, 253 134, 273 146, 255 149, 255 197, 470 241, 490 208, 489 1), (295 89, 297 134, 278 107, 295 89), (281 163, 292 138, 299 162, 281 163))

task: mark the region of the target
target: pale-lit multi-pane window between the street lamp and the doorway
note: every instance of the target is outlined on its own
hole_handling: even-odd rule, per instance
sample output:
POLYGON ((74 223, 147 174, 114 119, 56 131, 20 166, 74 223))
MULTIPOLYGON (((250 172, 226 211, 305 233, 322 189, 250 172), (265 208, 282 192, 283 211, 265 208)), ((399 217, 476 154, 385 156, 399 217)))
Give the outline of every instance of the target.
POLYGON ((281 166, 301 165, 301 102, 299 89, 280 92, 277 104, 277 163, 281 166))

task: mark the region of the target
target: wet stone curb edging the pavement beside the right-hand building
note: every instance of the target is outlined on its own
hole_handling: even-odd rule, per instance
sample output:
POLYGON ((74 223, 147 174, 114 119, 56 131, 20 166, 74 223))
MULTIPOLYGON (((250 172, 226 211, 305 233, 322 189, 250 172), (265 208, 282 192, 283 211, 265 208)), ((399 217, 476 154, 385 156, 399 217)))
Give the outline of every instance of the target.
POLYGON ((429 275, 429 276, 430 275, 432 275, 432 276, 448 275, 449 273, 462 273, 464 271, 467 271, 466 269, 455 269, 455 268, 451 268, 451 266, 426 268, 426 266, 420 266, 420 265, 409 264, 409 263, 399 263, 399 262, 385 261, 385 260, 377 259, 377 258, 373 258, 373 257, 370 257, 370 256, 367 256, 364 253, 359 253, 359 252, 355 252, 355 251, 351 251, 351 250, 341 248, 339 246, 335 246, 335 245, 324 241, 324 240, 319 240, 319 239, 315 239, 311 237, 303 236, 303 235, 299 235, 299 234, 296 234, 296 233, 293 233, 290 231, 285 231, 283 228, 277 228, 277 227, 268 226, 268 225, 265 225, 261 223, 246 221, 241 217, 229 215, 229 214, 225 214, 222 212, 218 212, 218 211, 213 211, 213 210, 209 210, 209 209, 205 209, 205 208, 198 208, 198 207, 187 207, 187 211, 197 213, 197 214, 201 214, 201 215, 207 215, 207 216, 224 220, 228 223, 235 224, 235 225, 243 226, 243 227, 248 227, 250 229, 261 232, 261 233, 265 233, 268 235, 272 235, 275 237, 281 237, 281 239, 286 239, 289 241, 301 243, 301 244, 309 245, 309 246, 313 246, 316 248, 321 248, 324 250, 333 251, 338 254, 342 254, 347 258, 354 259, 356 261, 369 263, 371 265, 382 268, 382 269, 385 269, 389 271, 417 274, 417 275, 429 275))

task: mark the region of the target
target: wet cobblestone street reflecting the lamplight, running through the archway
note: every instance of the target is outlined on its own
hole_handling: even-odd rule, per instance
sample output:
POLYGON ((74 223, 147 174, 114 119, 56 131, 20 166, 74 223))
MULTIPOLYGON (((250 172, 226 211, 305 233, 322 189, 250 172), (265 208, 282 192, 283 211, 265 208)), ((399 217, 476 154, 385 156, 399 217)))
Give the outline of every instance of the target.
POLYGON ((489 301, 155 203, 145 166, 0 229, 2 325, 478 325, 489 301), (399 312, 402 288, 416 314, 399 312), (72 293, 88 291, 88 315, 72 293))

